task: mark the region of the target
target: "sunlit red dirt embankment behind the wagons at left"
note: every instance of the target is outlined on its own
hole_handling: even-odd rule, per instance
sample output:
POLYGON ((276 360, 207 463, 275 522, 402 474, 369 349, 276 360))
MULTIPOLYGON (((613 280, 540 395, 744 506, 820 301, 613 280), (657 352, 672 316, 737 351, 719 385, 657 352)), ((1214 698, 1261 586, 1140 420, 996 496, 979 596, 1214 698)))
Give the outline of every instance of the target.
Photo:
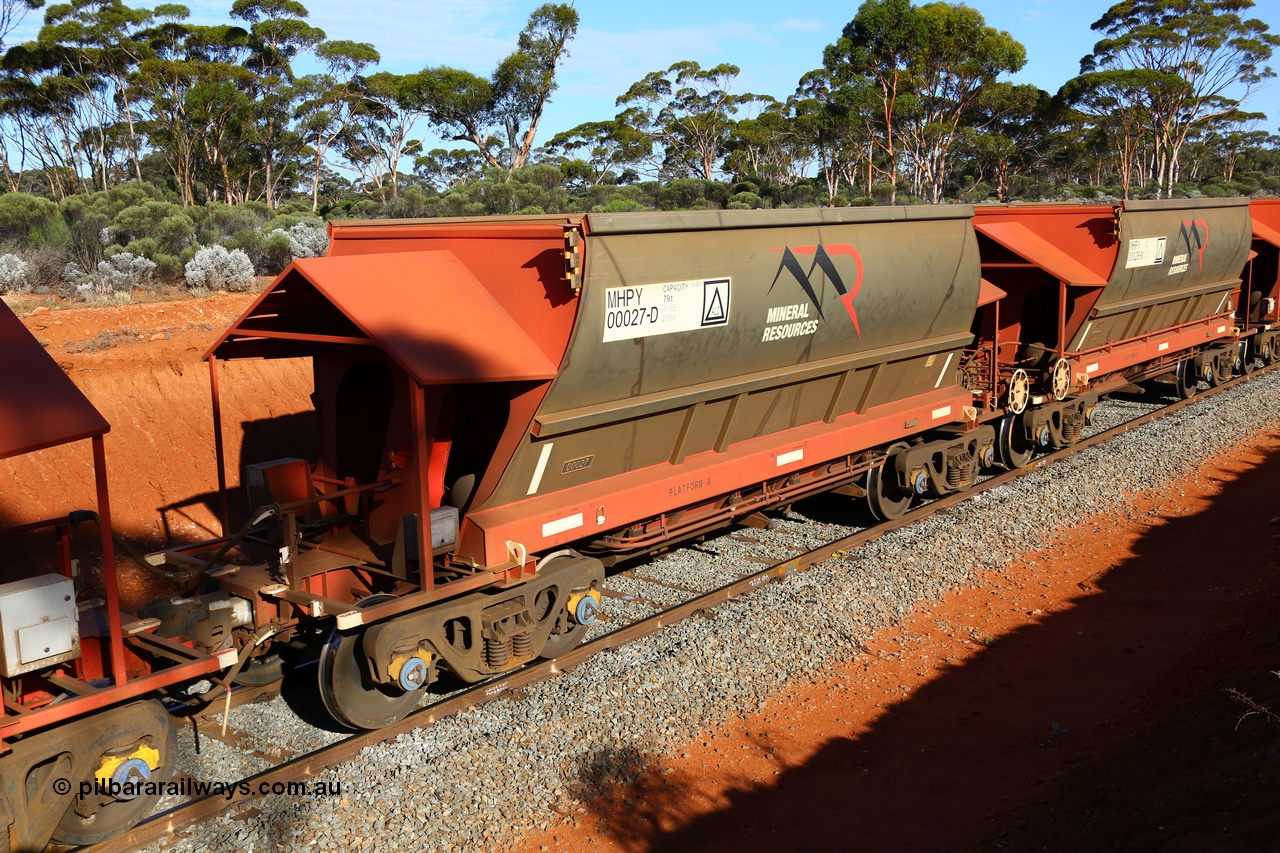
MULTIPOLYGON (((219 529, 209 368, 201 357, 251 298, 81 309, 54 304, 52 311, 27 306, 23 314, 27 328, 111 424, 106 461, 113 521, 136 542, 154 547, 168 537, 207 538, 219 529)), ((311 410, 308 362, 229 362, 220 365, 219 378, 233 487, 239 484, 246 442, 259 460, 291 455, 294 443, 314 444, 310 420, 298 415, 311 410)), ((87 441, 0 460, 0 528, 91 508, 91 466, 87 441)), ((92 535, 79 539, 77 551, 91 553, 92 535)), ((37 564, 49 551, 44 540, 28 540, 23 548, 37 564)), ((120 565, 124 570, 132 564, 120 565)), ((129 606, 131 598, 150 597, 150 588, 125 584, 123 594, 129 606)))

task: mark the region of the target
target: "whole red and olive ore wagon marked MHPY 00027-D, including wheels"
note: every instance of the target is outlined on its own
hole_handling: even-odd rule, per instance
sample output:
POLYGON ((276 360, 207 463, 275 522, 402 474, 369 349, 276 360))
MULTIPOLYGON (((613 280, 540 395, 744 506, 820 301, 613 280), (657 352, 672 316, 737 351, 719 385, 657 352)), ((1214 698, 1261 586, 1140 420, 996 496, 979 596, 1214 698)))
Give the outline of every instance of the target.
POLYGON ((285 633, 362 631, 321 694, 375 726, 413 697, 357 685, 394 693, 408 658, 475 680, 576 642, 618 556, 824 489, 888 516, 965 488, 995 442, 957 371, 970 215, 334 224, 210 350, 215 387, 225 359, 311 357, 320 435, 315 466, 247 471, 282 560, 223 588, 285 633))

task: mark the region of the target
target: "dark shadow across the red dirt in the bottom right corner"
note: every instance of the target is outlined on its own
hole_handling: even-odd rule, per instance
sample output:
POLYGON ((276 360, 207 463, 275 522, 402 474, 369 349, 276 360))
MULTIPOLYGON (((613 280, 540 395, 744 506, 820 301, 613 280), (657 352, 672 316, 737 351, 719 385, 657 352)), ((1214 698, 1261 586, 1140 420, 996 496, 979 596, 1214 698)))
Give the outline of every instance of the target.
POLYGON ((774 785, 708 803, 680 771, 602 754, 579 793, 631 850, 1276 849, 1280 717, 1242 720, 1229 690, 1280 710, 1277 569, 1272 452, 868 734, 777 756, 774 785))

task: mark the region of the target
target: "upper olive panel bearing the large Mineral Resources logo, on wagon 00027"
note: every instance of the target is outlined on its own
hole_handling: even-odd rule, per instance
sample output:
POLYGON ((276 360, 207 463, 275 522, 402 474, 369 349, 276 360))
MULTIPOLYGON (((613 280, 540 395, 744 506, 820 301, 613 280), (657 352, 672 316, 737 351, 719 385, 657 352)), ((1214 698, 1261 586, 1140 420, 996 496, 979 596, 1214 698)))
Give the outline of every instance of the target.
POLYGON ((539 414, 965 334, 978 289, 963 219, 596 236, 573 337, 539 414), (817 264, 818 246, 836 275, 817 264), (611 320, 632 319, 625 311, 653 310, 653 286, 709 282, 727 282, 722 325, 605 339, 611 320), (611 304, 628 287, 643 291, 639 305, 611 304))

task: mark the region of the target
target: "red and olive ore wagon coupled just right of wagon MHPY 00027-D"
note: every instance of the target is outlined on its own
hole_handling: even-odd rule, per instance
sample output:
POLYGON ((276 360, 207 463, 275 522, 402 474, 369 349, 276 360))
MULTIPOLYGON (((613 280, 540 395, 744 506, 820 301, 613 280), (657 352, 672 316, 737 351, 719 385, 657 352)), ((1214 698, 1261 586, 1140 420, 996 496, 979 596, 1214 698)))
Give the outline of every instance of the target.
POLYGON ((965 368, 1016 416, 1001 421, 1005 464, 1078 438, 1100 393, 1170 371, 1194 393, 1242 366, 1245 200, 983 206, 974 228, 1002 297, 965 368))

